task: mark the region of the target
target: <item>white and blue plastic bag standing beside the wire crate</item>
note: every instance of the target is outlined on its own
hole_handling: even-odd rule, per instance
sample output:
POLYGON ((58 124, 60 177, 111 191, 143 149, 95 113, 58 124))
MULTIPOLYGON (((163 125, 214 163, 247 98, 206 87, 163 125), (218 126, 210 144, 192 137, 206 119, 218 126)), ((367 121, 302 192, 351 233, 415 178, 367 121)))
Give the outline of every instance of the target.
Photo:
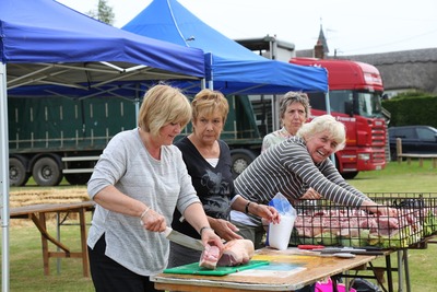
POLYGON ((293 208, 287 198, 285 198, 281 192, 277 192, 269 202, 269 206, 272 206, 277 210, 281 220, 277 224, 269 224, 267 245, 280 250, 287 249, 294 221, 297 215, 296 209, 293 208))

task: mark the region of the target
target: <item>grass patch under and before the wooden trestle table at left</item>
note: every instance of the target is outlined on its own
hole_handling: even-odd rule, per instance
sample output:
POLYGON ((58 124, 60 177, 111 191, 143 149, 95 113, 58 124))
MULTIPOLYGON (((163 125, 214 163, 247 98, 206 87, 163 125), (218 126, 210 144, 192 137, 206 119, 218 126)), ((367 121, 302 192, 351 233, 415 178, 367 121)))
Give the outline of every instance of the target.
MULTIPOLYGON (((90 220, 88 220, 90 221, 90 220)), ((73 223, 74 221, 69 221, 73 223)), ((10 291, 94 291, 90 278, 84 278, 80 258, 50 258, 50 276, 44 276, 42 241, 38 230, 31 221, 10 227, 10 291)), ((50 234, 56 234, 56 223, 48 224, 50 234)), ((61 242, 80 252, 79 225, 61 226, 61 242)), ((56 246, 49 243, 49 250, 56 246)))

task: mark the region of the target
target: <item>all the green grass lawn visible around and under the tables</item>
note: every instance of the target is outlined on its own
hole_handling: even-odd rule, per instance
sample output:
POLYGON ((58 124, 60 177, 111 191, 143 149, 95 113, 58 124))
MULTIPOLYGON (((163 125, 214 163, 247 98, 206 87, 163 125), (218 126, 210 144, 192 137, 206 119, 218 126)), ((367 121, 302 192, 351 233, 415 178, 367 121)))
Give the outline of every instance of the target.
MULTIPOLYGON (((437 170, 432 168, 430 161, 418 167, 417 161, 411 165, 406 162, 389 163, 379 172, 359 173, 349 183, 364 192, 436 192, 437 170)), ((26 189, 34 186, 25 187, 26 189)), ((66 186, 62 186, 66 187, 66 186)), ((11 191, 17 188, 11 188, 11 191)), ((56 224, 50 229, 55 232, 56 224)), ((54 233, 55 234, 55 233, 54 233)), ((62 241, 72 250, 80 250, 79 226, 62 226, 62 241)), ((55 247, 49 244, 50 250, 55 247)), ((410 249, 410 278, 412 291, 434 291, 437 277, 433 277, 437 268, 437 245, 429 244, 427 249, 410 249)), ((395 254, 392 266, 395 267, 395 254)), ((375 260, 382 266, 382 259, 375 260)), ((364 273, 363 273, 364 275, 364 273)), ((397 273, 393 273, 397 281, 397 273)), ((57 259, 50 259, 50 276, 43 273, 43 257, 39 232, 32 223, 10 226, 10 290, 11 291, 94 291, 91 279, 82 276, 81 259, 61 259, 60 272, 57 271, 57 259)), ((399 291, 394 285, 394 291, 399 291)), ((406 291, 404 289, 404 291, 406 291)))

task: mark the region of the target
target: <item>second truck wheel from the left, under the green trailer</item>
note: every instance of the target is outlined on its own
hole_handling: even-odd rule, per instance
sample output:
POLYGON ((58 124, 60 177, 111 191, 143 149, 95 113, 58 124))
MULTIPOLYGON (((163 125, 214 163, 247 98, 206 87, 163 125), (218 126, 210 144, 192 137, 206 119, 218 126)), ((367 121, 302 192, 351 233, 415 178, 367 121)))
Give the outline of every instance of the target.
POLYGON ((32 175, 38 186, 57 186, 62 180, 59 164, 52 157, 39 159, 34 165, 32 175))

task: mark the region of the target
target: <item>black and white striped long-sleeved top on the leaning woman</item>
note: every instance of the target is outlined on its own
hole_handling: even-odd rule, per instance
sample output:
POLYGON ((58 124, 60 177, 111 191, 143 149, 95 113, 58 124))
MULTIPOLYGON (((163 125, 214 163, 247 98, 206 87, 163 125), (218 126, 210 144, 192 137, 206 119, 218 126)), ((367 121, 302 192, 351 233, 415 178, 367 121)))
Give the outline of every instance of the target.
POLYGON ((291 137, 259 155, 234 182, 237 194, 259 202, 281 192, 291 201, 299 199, 312 187, 324 199, 351 207, 361 207, 366 195, 349 185, 327 159, 315 164, 306 142, 291 137))

